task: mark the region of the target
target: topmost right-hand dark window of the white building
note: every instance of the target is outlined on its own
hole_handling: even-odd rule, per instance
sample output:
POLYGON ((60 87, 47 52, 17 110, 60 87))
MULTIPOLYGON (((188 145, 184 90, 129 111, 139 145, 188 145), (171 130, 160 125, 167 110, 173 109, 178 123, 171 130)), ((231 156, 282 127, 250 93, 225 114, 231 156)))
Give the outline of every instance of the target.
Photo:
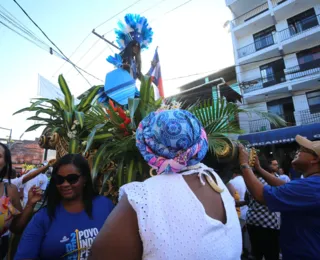
POLYGON ((319 24, 313 8, 293 16, 287 21, 291 35, 303 32, 319 24))

